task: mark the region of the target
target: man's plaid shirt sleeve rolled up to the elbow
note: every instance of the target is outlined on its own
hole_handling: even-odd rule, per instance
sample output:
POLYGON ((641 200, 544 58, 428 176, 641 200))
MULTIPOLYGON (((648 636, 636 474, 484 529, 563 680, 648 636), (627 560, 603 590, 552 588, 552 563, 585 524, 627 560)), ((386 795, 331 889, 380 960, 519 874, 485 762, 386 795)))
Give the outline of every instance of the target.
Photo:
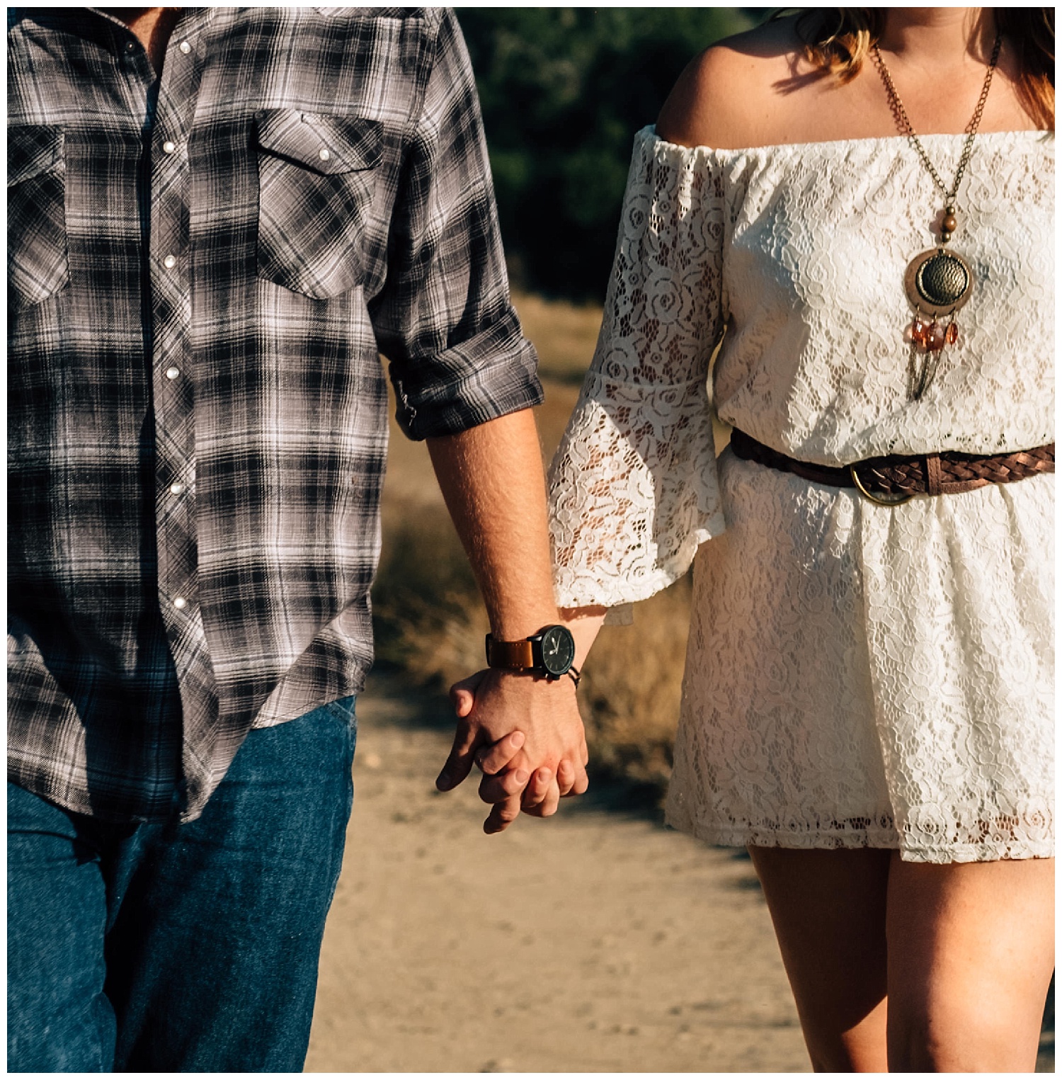
POLYGON ((534 348, 509 301, 472 65, 443 14, 370 307, 411 438, 453 434, 542 402, 534 348))

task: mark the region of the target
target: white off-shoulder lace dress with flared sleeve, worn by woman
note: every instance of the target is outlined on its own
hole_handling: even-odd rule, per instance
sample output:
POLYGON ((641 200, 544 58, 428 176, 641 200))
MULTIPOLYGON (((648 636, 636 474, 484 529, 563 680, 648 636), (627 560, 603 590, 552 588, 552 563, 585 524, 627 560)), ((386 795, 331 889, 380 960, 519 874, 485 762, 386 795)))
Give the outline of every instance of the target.
MULTIPOLYGON (((954 175, 963 136, 923 141, 954 175)), ((552 529, 564 607, 643 599, 696 556, 678 828, 932 863, 1053 853, 1054 477, 883 508, 717 462, 710 419, 825 464, 1051 442, 1053 189, 1049 136, 977 137, 952 242, 975 292, 911 402, 903 273, 940 199, 906 139, 639 133, 552 529)))

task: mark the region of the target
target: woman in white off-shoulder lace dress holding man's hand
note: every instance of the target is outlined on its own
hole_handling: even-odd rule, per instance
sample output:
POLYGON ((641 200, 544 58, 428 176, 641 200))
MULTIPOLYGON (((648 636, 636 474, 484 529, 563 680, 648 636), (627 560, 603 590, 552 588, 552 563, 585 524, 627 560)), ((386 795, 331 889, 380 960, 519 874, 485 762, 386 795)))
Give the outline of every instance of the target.
POLYGON ((554 460, 580 657, 694 563, 668 820, 748 846, 816 1069, 1035 1063, 1052 133, 1053 9, 816 9, 709 49, 635 141, 554 460), (744 433, 718 465, 712 408, 744 433), (886 455, 867 495, 838 468, 886 455), (1024 478, 956 490, 980 458, 1024 478))

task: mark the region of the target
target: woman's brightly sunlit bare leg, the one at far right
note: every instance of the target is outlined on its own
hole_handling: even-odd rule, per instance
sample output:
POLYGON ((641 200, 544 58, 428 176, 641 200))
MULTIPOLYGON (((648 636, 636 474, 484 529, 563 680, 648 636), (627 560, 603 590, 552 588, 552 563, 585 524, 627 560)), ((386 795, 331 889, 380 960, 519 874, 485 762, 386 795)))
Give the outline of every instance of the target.
POLYGON ((888 881, 895 1072, 1036 1065, 1054 966, 1054 860, 903 863, 888 881))

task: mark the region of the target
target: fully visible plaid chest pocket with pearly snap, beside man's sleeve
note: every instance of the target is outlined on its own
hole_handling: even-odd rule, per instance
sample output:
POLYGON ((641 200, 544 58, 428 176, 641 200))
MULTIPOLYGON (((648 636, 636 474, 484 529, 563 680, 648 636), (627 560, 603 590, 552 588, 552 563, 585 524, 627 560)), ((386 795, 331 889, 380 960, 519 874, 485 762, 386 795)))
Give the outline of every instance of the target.
POLYGON ((315 299, 357 284, 381 125, 294 109, 255 113, 258 274, 315 299))

